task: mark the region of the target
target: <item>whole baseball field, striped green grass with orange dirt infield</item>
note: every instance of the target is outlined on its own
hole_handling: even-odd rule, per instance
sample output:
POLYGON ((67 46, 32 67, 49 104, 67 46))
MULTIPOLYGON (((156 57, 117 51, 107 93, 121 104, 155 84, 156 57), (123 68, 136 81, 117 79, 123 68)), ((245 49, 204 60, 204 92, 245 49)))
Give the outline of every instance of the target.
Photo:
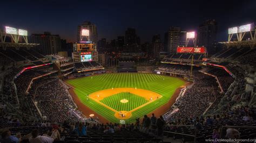
POLYGON ((113 123, 143 117, 169 102, 185 81, 148 73, 110 73, 65 81, 85 106, 113 123))

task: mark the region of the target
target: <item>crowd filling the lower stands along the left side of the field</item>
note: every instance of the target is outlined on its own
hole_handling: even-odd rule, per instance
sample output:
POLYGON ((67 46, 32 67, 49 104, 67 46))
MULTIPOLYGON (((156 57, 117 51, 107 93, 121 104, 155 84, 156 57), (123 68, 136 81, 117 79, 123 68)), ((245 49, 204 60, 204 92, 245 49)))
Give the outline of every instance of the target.
POLYGON ((42 116, 51 121, 76 121, 82 118, 76 111, 76 105, 69 95, 68 88, 58 79, 39 87, 35 101, 42 116))

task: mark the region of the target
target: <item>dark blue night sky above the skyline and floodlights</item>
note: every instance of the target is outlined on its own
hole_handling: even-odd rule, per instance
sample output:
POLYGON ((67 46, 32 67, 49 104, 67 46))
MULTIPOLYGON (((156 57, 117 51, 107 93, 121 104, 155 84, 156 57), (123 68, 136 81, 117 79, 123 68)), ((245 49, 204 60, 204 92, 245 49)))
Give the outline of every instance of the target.
POLYGON ((170 26, 198 30, 206 19, 218 22, 218 41, 227 40, 227 28, 256 22, 256 1, 6 1, 1 2, 0 26, 23 28, 32 33, 49 31, 76 41, 77 25, 95 23, 98 39, 107 41, 136 28, 142 42, 170 26))

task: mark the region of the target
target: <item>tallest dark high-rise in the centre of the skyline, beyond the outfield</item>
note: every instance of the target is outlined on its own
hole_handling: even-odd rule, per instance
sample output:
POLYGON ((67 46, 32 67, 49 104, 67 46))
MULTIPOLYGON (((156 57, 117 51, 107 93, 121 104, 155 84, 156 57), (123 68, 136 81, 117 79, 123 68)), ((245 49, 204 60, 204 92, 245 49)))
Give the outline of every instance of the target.
POLYGON ((134 28, 127 28, 125 31, 125 44, 126 45, 140 45, 140 38, 136 35, 134 28))

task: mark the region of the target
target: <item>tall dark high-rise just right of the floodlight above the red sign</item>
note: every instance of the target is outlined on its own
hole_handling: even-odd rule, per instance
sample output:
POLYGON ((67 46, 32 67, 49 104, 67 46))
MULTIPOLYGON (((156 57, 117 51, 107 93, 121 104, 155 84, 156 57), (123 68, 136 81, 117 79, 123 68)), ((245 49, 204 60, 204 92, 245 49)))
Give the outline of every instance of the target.
POLYGON ((199 26, 197 37, 198 46, 206 47, 208 54, 214 54, 216 52, 217 28, 218 25, 214 19, 205 20, 205 22, 199 26))

